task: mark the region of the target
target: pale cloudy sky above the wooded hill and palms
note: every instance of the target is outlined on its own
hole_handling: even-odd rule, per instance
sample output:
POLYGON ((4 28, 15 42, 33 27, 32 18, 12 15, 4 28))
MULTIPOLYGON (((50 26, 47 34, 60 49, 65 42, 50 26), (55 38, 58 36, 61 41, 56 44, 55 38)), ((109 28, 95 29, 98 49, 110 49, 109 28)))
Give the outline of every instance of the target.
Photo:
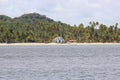
POLYGON ((13 18, 33 12, 70 25, 114 25, 120 23, 120 0, 0 0, 0 15, 13 18))

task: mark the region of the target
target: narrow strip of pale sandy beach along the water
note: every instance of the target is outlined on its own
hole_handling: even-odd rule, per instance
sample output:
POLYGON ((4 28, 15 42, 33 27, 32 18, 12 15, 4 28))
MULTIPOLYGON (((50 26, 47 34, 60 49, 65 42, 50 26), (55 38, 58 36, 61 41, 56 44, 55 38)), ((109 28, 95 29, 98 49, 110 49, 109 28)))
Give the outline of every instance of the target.
POLYGON ((0 43, 0 46, 120 45, 120 43, 0 43))

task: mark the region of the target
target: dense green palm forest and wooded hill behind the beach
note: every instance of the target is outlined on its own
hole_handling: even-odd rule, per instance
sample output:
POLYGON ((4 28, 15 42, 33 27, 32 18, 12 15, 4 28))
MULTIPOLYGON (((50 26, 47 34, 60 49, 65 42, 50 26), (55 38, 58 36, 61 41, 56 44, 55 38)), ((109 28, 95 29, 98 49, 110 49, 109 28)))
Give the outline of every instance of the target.
POLYGON ((24 14, 10 18, 0 15, 0 42, 52 42, 62 36, 65 41, 75 39, 78 42, 119 42, 118 24, 106 26, 99 22, 90 22, 88 26, 70 26, 54 21, 38 13, 24 14))

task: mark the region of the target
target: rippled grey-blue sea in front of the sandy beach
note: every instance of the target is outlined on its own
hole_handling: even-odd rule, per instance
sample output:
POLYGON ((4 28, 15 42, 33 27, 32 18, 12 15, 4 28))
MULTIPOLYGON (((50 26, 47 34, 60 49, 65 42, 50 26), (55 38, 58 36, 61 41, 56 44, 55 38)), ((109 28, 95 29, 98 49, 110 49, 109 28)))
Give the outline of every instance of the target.
POLYGON ((0 46, 0 80, 120 80, 120 45, 0 46))

